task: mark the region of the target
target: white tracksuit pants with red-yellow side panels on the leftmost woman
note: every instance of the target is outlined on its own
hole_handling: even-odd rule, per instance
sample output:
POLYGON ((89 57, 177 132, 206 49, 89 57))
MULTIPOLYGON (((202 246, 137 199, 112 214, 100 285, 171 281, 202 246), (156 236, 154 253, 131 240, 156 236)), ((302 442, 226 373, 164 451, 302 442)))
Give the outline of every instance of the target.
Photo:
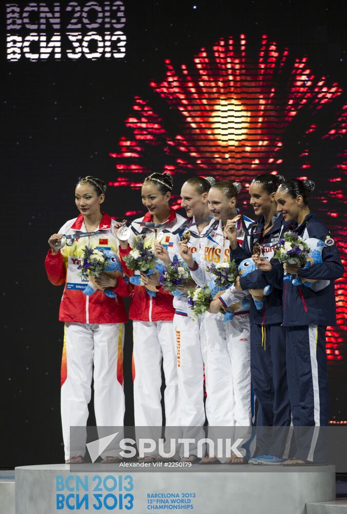
MULTIPOLYGON (((85 453, 83 438, 79 438, 79 447, 73 444, 70 452, 70 427, 87 424, 92 378, 97 426, 123 426, 124 391, 117 379, 117 364, 120 348, 123 349, 124 323, 65 323, 65 337, 67 378, 61 389, 61 413, 65 460, 68 460, 85 453)), ((103 456, 117 453, 106 449, 103 456)))

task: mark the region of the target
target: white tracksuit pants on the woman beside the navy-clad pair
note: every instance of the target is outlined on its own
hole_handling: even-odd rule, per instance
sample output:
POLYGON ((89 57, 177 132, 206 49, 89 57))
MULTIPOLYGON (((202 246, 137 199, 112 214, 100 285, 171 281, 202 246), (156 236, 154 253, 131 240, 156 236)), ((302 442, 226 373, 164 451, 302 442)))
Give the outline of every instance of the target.
POLYGON ((223 323, 222 314, 206 313, 206 417, 211 426, 251 424, 248 315, 223 323))

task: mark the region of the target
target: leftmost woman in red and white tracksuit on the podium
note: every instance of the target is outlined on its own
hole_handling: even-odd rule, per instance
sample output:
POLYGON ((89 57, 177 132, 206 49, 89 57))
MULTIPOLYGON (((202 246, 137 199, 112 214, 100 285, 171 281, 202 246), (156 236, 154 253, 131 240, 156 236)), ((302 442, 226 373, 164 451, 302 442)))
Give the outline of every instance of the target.
MULTIPOLYGON (((83 437, 70 448, 70 427, 87 424, 92 378, 97 425, 120 427, 124 422, 122 351, 127 317, 121 297, 128 296, 128 286, 122 277, 102 273, 95 279, 95 287, 112 289, 116 296, 109 298, 102 290, 86 296, 83 290, 87 283, 78 269, 85 246, 118 251, 115 222, 100 210, 105 191, 105 183, 95 177, 87 176, 77 183, 75 203, 81 214, 51 235, 45 261, 50 282, 65 284, 59 313, 59 319, 65 322, 61 412, 65 460, 70 463, 82 462, 85 452, 83 437), (68 238, 72 245, 59 250, 64 235, 73 235, 68 238)), ((118 454, 114 447, 103 457, 105 461, 117 461, 118 454)))

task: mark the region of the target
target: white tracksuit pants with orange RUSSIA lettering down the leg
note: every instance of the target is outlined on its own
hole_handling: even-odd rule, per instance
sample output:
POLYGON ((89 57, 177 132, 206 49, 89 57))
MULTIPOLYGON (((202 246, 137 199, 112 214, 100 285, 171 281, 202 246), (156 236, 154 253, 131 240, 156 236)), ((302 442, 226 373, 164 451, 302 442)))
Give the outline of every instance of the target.
MULTIPOLYGON (((204 362, 201 346, 205 345, 203 317, 193 321, 175 314, 173 333, 176 340, 178 390, 181 404, 182 437, 196 440, 205 437, 204 362)), ((181 457, 184 456, 182 445, 181 457)), ((197 455, 197 445, 190 443, 189 455, 197 455)), ((188 455, 185 455, 188 456, 188 455)))

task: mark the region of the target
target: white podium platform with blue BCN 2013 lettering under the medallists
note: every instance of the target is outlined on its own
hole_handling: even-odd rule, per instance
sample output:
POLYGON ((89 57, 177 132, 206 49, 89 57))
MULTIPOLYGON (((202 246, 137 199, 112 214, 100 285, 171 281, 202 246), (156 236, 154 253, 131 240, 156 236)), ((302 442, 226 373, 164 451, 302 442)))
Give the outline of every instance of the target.
MULTIPOLYGON (((306 514, 306 504, 335 500, 335 466, 194 465, 194 471, 107 465, 15 469, 15 514, 306 514), (216 467, 216 466, 214 466, 216 467)), ((1 510, 0 510, 1 511, 1 510)), ((310 514, 316 511, 310 511, 310 514)), ((317 511, 318 512, 318 511, 317 511)), ((321 511, 319 511, 321 512, 321 511)), ((324 511, 325 512, 325 511, 324 511)), ((7 512, 6 512, 7 514, 7 512)))

